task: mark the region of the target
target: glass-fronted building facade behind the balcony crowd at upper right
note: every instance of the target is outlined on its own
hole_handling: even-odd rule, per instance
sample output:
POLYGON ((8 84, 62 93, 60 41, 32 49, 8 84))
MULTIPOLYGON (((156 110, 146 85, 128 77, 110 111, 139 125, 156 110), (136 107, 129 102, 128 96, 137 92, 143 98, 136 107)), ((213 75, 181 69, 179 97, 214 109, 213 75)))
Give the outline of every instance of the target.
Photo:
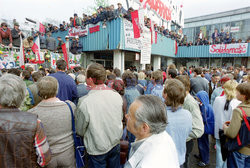
POLYGON ((200 30, 212 41, 214 29, 218 29, 218 32, 223 29, 224 32, 230 32, 236 41, 242 39, 245 42, 250 38, 250 7, 185 19, 184 25, 183 34, 193 43, 200 30))

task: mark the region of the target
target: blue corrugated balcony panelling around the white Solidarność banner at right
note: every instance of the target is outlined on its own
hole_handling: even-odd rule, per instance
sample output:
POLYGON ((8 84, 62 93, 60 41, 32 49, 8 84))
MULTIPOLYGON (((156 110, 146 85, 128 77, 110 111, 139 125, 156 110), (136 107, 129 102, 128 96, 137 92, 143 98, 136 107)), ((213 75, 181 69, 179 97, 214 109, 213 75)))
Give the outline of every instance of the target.
POLYGON ((209 46, 180 46, 177 58, 221 58, 221 57, 250 57, 250 43, 246 54, 210 54, 209 46))

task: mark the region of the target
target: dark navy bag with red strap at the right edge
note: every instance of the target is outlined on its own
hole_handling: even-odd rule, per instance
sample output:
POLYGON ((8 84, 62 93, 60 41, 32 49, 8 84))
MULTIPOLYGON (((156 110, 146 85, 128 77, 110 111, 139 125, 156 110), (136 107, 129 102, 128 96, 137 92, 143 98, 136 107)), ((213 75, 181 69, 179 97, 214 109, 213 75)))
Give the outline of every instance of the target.
POLYGON ((250 117, 247 117, 246 112, 239 107, 242 111, 243 121, 239 133, 236 138, 228 138, 227 143, 225 144, 229 152, 238 151, 242 147, 250 144, 250 117))

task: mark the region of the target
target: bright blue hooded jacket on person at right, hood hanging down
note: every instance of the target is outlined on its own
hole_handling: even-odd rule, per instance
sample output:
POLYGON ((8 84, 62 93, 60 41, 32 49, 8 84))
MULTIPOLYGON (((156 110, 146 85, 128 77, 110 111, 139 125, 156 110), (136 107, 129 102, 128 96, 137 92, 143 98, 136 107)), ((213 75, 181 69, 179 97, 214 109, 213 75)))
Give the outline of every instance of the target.
POLYGON ((214 111, 213 107, 209 104, 208 93, 205 91, 199 91, 196 96, 200 99, 201 115, 205 126, 205 134, 214 134, 214 111))

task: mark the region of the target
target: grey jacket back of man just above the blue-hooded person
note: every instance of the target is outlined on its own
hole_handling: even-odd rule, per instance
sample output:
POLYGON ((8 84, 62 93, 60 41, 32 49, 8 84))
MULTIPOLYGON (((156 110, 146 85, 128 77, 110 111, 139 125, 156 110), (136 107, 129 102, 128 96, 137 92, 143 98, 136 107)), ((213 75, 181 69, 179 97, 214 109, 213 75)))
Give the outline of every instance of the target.
POLYGON ((198 93, 201 90, 206 91, 207 93, 209 93, 209 87, 208 87, 208 83, 205 79, 203 79, 200 76, 197 76, 195 78, 192 78, 190 80, 190 94, 192 96, 195 96, 196 93, 198 93))

